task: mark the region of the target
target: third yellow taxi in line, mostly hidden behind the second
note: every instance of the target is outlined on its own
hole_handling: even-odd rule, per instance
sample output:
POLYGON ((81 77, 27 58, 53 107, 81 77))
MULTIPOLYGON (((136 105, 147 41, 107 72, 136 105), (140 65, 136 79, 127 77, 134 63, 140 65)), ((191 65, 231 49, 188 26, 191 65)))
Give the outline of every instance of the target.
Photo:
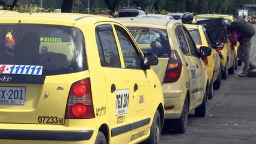
POLYGON ((213 47, 212 41, 207 34, 206 28, 201 25, 185 25, 187 30, 189 30, 195 44, 198 49, 201 46, 207 46, 212 49, 212 54, 207 57, 202 57, 204 64, 206 65, 206 70, 209 77, 209 91, 208 98, 213 98, 213 89, 219 89, 221 86, 221 58, 219 52, 213 47))

